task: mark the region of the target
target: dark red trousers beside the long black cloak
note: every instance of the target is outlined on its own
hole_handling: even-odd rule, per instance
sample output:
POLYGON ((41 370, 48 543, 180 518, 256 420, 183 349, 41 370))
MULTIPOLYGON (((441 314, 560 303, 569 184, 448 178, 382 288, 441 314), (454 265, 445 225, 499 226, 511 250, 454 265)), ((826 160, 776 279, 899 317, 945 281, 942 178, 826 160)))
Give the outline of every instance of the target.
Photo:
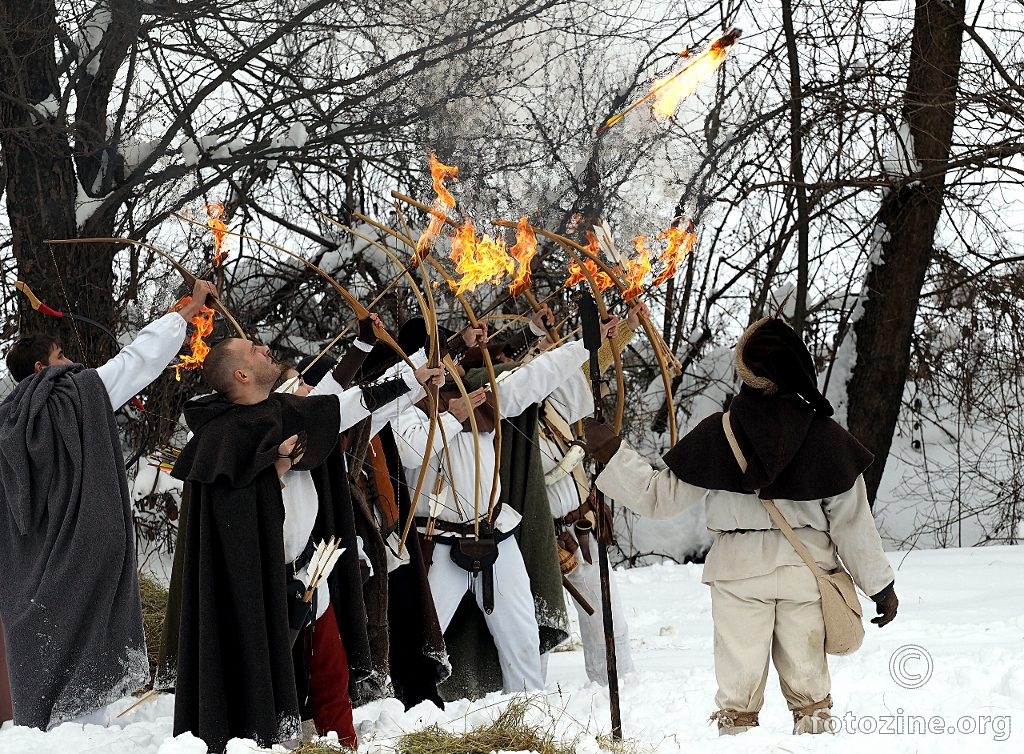
POLYGON ((306 630, 312 631, 309 710, 316 732, 324 736, 334 730, 344 746, 355 749, 358 742, 352 724, 352 699, 348 696, 348 657, 334 608, 328 604, 327 612, 306 630))

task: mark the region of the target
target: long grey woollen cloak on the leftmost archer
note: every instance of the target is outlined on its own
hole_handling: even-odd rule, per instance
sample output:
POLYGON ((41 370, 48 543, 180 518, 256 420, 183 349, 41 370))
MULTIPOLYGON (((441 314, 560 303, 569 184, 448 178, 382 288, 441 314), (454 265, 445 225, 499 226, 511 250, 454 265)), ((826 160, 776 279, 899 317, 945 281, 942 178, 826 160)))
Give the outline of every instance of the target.
POLYGON ((46 728, 144 685, 128 481, 95 370, 48 367, 0 404, 0 538, 15 722, 46 728))

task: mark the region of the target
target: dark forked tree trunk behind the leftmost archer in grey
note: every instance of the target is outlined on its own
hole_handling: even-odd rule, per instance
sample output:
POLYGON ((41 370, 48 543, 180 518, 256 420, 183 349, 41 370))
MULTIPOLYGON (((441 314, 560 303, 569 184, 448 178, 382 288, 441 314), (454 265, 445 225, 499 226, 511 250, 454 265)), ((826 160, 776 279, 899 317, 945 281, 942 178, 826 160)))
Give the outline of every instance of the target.
MULTIPOLYGON (((115 249, 95 246, 47 246, 50 239, 74 238, 78 231, 76 210, 79 200, 76 155, 85 165, 86 183, 96 181, 97 155, 105 133, 106 104, 114 78, 129 35, 120 34, 131 14, 123 0, 120 11, 104 35, 101 65, 95 75, 80 72, 76 87, 78 120, 43 111, 40 102, 60 102, 56 13, 52 0, 0 0, 0 149, 6 167, 7 215, 11 242, 17 260, 18 278, 56 309, 71 310, 97 320, 108 327, 117 322, 114 304, 113 258, 115 249), (110 44, 111 40, 120 44, 110 44), (104 59, 105 58, 105 59, 104 59), (71 126, 71 127, 69 127, 71 126), (71 135, 77 133, 75 150, 71 135)), ((116 154, 110 150, 108 154, 116 154)), ((81 167, 81 166, 79 166, 81 167)), ((113 171, 112 171, 113 174, 113 171)), ((104 184, 102 190, 110 188, 104 184)), ((108 235, 113 228, 113 212, 93 218, 89 229, 108 235), (105 232, 105 233, 103 233, 105 232)), ((33 311, 28 299, 19 298, 20 331, 53 330, 33 311)), ((59 335, 69 355, 87 364, 97 364, 114 352, 114 344, 98 330, 65 322, 59 335)))

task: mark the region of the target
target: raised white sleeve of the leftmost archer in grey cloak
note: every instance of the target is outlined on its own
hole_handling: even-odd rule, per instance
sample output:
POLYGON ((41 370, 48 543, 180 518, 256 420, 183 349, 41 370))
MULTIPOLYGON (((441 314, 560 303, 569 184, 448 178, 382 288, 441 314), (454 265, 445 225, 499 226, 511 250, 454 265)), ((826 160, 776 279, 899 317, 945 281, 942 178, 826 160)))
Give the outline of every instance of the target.
POLYGON ((184 318, 171 311, 151 322, 117 355, 96 367, 115 410, 161 375, 181 349, 187 331, 184 318))

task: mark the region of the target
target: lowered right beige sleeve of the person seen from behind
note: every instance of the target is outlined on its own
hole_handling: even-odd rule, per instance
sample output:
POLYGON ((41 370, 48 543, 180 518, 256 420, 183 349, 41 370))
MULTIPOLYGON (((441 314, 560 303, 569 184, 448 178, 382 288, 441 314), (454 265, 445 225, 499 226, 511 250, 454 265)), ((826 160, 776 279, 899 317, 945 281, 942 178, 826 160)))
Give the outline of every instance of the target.
POLYGON ((867 595, 889 586, 896 577, 882 548, 864 477, 858 476, 850 490, 827 499, 822 507, 828 519, 828 536, 857 586, 867 595))

